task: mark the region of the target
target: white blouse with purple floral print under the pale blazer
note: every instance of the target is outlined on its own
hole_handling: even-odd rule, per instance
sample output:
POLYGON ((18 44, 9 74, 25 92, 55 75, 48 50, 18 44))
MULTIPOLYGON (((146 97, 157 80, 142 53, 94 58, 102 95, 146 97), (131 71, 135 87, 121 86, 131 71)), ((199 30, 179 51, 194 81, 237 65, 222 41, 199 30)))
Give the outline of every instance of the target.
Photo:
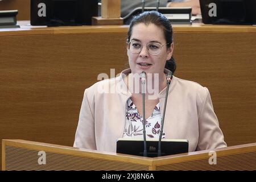
MULTIPOLYGON (((153 113, 146 119, 146 137, 159 138, 161 125, 160 104, 155 106, 153 113)), ((162 138, 164 138, 164 133, 162 138)), ((133 101, 129 99, 126 103, 126 119, 123 138, 143 138, 143 117, 138 113, 133 101)))

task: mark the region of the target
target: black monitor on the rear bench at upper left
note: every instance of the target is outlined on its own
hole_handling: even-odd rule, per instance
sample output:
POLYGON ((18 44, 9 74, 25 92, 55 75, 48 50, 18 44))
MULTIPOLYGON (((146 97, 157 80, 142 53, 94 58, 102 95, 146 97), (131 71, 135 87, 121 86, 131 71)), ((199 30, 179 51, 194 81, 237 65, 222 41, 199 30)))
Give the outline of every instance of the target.
POLYGON ((92 24, 98 15, 97 0, 31 0, 32 26, 80 26, 92 24))

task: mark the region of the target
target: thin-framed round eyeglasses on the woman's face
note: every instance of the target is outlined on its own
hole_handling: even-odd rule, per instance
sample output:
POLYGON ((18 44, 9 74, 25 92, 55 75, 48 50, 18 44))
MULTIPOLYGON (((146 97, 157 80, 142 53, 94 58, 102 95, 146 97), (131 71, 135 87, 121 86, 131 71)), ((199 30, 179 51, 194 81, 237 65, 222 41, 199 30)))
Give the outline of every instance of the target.
MULTIPOLYGON (((146 44, 147 52, 151 55, 158 55, 161 52, 163 46, 166 46, 170 43, 161 45, 156 42, 151 42, 146 44)), ((127 43, 127 49, 131 51, 131 53, 140 53, 142 50, 143 45, 135 40, 131 40, 131 42, 127 43)))

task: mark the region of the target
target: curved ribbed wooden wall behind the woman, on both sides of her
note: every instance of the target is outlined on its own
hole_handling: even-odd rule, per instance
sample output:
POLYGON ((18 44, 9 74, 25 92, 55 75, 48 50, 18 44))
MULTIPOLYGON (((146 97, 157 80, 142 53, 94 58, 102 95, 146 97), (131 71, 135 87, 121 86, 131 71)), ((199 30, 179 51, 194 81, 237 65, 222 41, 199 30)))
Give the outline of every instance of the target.
MULTIPOLYGON (((228 146, 256 140, 256 27, 246 27, 174 27, 175 75, 208 87, 228 146)), ((126 32, 0 32, 0 139, 72 146, 84 89, 128 67, 126 32)))

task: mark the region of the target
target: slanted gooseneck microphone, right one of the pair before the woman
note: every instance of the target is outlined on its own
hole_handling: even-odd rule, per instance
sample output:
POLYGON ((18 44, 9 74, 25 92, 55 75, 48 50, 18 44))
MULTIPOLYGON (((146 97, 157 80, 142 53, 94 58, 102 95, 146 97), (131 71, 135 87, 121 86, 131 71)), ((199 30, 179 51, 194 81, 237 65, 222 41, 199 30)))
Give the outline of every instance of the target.
POLYGON ((159 141, 158 141, 158 156, 161 156, 161 140, 162 140, 162 135, 163 135, 164 115, 166 115, 166 104, 167 104, 168 91, 169 91, 169 87, 171 84, 171 79, 172 79, 172 72, 170 71, 170 72, 168 72, 168 75, 166 77, 166 80, 167 80, 166 98, 164 100, 163 117, 162 117, 162 121, 161 121, 161 129, 160 129, 160 135, 159 135, 159 141))

